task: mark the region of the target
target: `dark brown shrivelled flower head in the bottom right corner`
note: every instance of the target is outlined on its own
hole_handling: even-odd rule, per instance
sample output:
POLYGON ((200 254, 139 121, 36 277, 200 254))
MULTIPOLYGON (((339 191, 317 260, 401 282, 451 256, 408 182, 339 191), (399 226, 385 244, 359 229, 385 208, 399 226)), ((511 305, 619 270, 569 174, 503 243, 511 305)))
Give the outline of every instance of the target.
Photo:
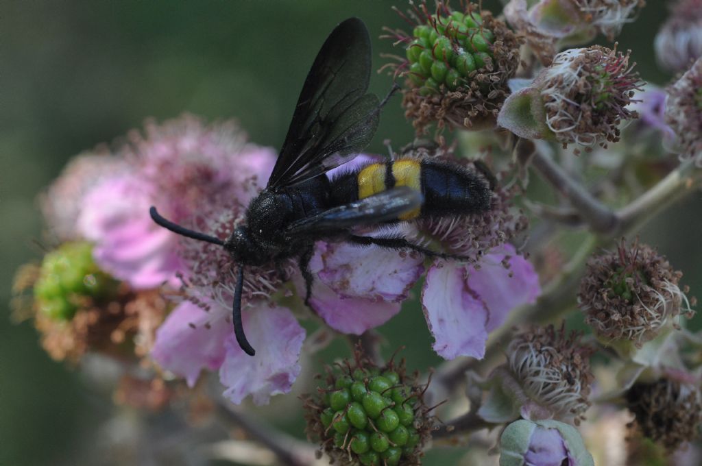
POLYGON ((638 382, 626 400, 637 430, 668 451, 698 436, 702 399, 699 383, 689 375, 670 373, 656 382, 638 382))

